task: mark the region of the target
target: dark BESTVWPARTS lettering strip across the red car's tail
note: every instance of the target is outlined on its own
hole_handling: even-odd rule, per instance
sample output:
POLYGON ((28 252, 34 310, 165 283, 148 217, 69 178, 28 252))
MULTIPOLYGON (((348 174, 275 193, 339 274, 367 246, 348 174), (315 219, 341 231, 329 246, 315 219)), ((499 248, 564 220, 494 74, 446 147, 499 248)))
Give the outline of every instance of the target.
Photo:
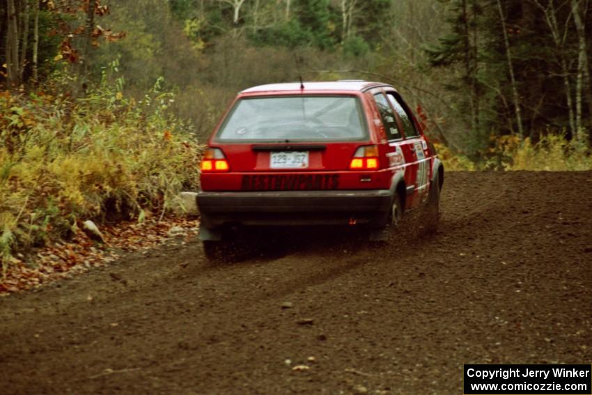
POLYGON ((315 191, 337 189, 338 187, 338 174, 242 176, 242 190, 244 191, 315 191))

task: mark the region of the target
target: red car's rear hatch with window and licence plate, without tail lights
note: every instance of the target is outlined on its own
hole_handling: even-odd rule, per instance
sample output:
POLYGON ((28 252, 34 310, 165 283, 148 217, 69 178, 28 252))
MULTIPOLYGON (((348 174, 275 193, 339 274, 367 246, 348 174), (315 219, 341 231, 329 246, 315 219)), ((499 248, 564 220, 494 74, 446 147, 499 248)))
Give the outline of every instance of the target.
POLYGON ((240 98, 212 137, 229 171, 202 174, 204 190, 360 189, 343 178, 370 143, 357 95, 240 98))

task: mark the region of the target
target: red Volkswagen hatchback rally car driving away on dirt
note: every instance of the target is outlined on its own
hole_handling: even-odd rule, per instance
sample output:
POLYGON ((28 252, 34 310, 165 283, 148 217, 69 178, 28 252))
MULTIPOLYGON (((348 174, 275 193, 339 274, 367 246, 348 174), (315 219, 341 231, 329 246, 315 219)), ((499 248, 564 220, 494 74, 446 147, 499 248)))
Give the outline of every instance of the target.
POLYGON ((378 82, 270 84, 240 92, 201 162, 206 251, 233 226, 366 226, 388 237, 407 210, 437 225, 444 167, 399 93, 378 82))

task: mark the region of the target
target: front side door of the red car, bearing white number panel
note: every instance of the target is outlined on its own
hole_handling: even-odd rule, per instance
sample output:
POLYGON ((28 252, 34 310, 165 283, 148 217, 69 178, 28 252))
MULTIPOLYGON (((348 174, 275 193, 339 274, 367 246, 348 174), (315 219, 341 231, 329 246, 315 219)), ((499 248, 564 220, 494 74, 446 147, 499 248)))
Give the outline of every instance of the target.
POLYGON ((401 127, 404 134, 403 150, 409 153, 411 160, 410 164, 410 180, 411 184, 407 183, 407 187, 413 187, 412 206, 417 206, 421 201, 428 197, 429 191, 429 170, 430 157, 428 155, 428 144, 423 139, 421 133, 416 128, 414 116, 409 107, 403 101, 396 91, 387 91, 387 98, 393 107, 395 113, 400 119, 401 127))

